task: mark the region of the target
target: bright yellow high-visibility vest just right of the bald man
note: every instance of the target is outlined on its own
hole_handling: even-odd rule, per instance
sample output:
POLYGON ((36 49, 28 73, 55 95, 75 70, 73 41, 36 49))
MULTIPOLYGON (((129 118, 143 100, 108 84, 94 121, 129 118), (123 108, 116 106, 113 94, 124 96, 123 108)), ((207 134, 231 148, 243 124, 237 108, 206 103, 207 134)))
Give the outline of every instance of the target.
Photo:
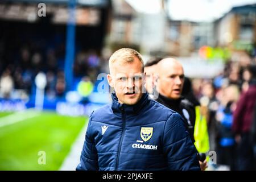
POLYGON ((207 129, 207 118, 201 114, 200 106, 195 107, 196 121, 195 121, 195 146, 198 152, 206 153, 210 150, 209 135, 207 129))

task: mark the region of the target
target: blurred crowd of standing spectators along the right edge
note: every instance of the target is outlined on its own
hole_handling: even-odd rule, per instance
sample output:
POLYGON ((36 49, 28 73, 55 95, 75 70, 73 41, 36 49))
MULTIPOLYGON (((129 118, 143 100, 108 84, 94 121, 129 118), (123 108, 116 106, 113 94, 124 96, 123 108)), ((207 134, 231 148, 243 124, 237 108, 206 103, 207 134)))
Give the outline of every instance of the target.
MULTIPOLYGON (((234 112, 241 94, 246 93, 249 85, 255 82, 256 70, 251 69, 255 64, 255 57, 242 54, 238 61, 228 61, 220 75, 212 79, 194 78, 192 80, 195 96, 200 100, 201 105, 208 107, 210 150, 217 152, 217 164, 225 165, 231 170, 253 169, 253 166, 245 162, 246 155, 248 158, 253 148, 249 149, 245 146, 242 150, 238 148, 241 146, 241 135, 234 131, 234 112), (247 152, 242 159, 241 151, 247 152)), ((255 102, 256 96, 251 99, 255 102)), ((243 118, 242 115, 240 117, 243 118)), ((242 125, 240 123, 238 127, 242 125)), ((250 130, 247 132, 250 133, 250 130)), ((250 145, 252 146, 253 143, 250 145)), ((253 158, 250 160, 253 161, 253 158)))

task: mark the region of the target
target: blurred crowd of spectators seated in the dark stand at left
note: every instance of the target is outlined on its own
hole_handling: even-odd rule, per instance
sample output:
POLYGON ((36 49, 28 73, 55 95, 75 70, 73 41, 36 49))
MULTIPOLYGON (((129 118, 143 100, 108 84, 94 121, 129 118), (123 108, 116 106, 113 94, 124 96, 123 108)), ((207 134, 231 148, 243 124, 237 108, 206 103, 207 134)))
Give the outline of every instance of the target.
MULTIPOLYGON (((58 39, 57 36, 55 40, 58 39)), ((35 94, 35 76, 46 73, 46 95, 49 98, 63 97, 65 94, 65 46, 54 41, 30 40, 17 48, 10 48, 6 39, 0 39, 0 97, 28 99, 35 94)), ((19 44, 14 42, 14 44, 19 44)), ((101 70, 100 56, 93 49, 81 49, 73 63, 74 82, 86 76, 95 81, 101 70)), ((75 88, 74 88, 75 89, 75 88)))

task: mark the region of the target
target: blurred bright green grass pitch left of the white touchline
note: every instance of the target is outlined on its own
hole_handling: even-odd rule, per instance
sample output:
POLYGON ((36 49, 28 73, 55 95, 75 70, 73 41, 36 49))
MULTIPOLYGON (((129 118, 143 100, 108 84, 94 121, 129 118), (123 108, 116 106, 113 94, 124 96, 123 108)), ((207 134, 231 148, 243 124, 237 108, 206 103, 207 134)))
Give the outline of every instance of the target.
POLYGON ((0 127, 0 170, 58 170, 87 121, 48 111, 0 127), (46 164, 38 164, 39 151, 46 152, 46 164))

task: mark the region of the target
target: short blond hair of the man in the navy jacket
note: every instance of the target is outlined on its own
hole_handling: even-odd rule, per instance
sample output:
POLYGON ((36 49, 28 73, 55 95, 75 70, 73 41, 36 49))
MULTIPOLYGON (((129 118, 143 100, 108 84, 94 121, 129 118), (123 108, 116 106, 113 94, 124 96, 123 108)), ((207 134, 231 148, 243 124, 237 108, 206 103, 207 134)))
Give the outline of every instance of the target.
POLYGON ((135 49, 121 48, 115 51, 109 58, 109 69, 111 69, 115 61, 121 61, 121 63, 131 63, 134 61, 134 57, 137 57, 141 61, 142 73, 144 72, 144 63, 141 54, 135 49))

